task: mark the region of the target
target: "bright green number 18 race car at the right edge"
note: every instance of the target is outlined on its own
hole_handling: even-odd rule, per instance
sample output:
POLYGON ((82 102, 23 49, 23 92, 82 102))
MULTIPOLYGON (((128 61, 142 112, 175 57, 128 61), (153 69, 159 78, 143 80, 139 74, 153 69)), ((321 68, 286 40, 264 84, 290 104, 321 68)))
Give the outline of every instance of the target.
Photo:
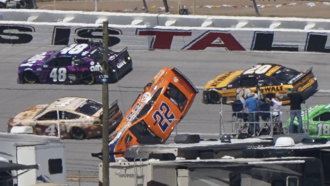
MULTIPOLYGON (((303 123, 309 121, 310 137, 330 138, 330 104, 304 109, 301 111, 301 118, 303 123)), ((287 123, 290 123, 290 118, 287 123)), ((294 119, 293 124, 298 126, 297 118, 294 119)), ((288 128, 288 125, 286 127, 288 128)))

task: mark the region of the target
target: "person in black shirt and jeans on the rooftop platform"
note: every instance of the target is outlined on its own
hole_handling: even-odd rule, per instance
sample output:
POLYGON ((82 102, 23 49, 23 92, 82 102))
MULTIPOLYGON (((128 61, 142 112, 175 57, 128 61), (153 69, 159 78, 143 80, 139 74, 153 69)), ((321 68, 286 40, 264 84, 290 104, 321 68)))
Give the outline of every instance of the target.
POLYGON ((288 97, 290 99, 290 124, 289 133, 293 134, 293 120, 297 117, 298 120, 298 132, 303 133, 303 122, 301 119, 301 104, 305 103, 305 100, 301 94, 291 88, 287 89, 288 97))

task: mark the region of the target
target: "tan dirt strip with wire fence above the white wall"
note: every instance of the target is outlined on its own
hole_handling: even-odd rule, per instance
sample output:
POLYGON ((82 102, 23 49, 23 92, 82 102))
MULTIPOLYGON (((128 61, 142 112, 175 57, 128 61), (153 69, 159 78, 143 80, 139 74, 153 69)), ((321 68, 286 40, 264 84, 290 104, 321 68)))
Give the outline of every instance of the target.
POLYGON ((37 0, 38 9, 329 18, 329 0, 37 0))

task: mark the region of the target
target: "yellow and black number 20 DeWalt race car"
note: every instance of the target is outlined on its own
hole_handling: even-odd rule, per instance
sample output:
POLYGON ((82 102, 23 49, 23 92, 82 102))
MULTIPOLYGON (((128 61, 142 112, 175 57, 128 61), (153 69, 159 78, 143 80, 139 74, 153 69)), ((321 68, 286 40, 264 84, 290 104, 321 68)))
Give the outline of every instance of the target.
POLYGON ((317 91, 317 81, 312 68, 297 71, 276 64, 258 64, 247 70, 226 72, 210 80, 204 86, 203 103, 230 104, 259 88, 264 98, 280 93, 283 105, 287 105, 290 103, 288 88, 297 89, 306 100, 317 91))

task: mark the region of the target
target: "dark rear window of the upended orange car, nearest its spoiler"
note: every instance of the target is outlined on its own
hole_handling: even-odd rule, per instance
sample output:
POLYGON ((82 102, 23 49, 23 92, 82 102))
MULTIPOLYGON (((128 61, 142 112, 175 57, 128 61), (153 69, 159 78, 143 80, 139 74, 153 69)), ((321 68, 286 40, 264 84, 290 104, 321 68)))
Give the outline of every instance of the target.
POLYGON ((164 95, 170 99, 170 101, 176 105, 181 112, 183 111, 188 99, 176 86, 174 86, 174 84, 170 83, 168 85, 164 95))

